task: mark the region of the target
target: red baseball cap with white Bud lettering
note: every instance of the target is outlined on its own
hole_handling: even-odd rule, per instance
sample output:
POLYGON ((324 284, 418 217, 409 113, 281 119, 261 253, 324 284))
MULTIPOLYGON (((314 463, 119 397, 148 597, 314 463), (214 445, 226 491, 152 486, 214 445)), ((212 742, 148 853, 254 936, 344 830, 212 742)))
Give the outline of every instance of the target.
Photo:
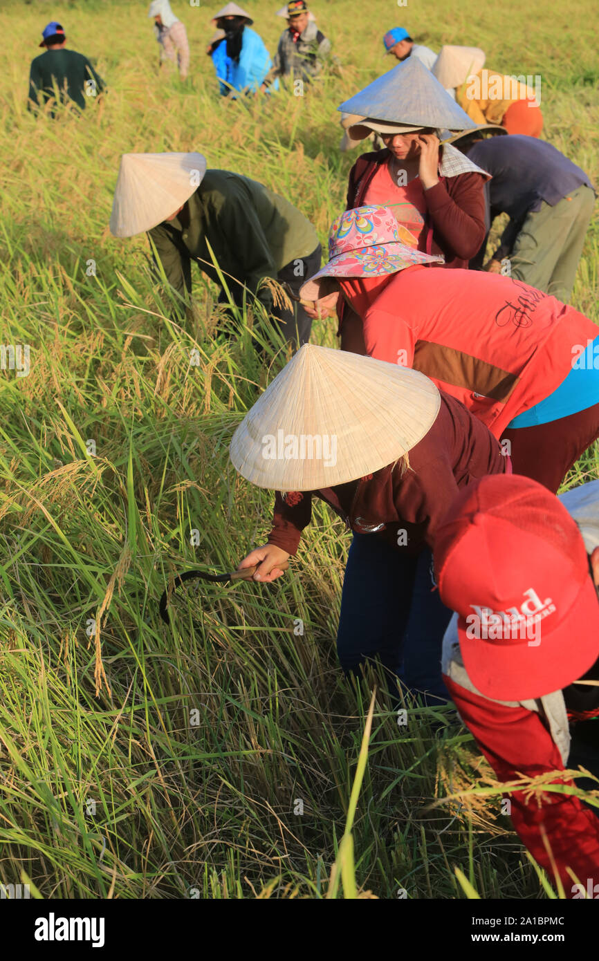
POLYGON ((536 480, 494 475, 466 487, 437 528, 443 604, 459 614, 464 667, 497 701, 581 678, 599 656, 599 602, 585 542, 536 480))

